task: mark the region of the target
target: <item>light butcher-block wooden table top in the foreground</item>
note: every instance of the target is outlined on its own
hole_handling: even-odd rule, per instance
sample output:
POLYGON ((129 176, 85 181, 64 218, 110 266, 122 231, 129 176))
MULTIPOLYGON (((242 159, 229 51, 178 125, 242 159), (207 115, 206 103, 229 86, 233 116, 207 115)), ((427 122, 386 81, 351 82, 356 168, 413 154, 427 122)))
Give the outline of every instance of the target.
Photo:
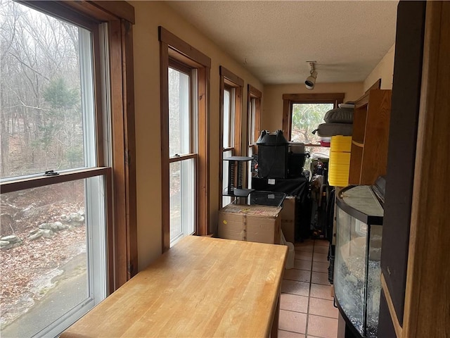
POLYGON ((287 253, 185 237, 60 337, 269 337, 287 253))

